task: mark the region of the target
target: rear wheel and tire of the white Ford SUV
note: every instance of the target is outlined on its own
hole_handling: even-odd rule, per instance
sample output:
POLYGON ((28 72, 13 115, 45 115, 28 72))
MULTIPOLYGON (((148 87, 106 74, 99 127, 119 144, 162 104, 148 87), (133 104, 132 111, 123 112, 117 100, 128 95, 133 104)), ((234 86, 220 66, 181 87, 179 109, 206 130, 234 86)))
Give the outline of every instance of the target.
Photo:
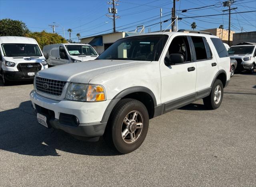
POLYGON ((220 79, 216 79, 213 84, 212 91, 209 96, 203 98, 204 106, 208 109, 216 109, 220 107, 223 98, 223 84, 220 79))

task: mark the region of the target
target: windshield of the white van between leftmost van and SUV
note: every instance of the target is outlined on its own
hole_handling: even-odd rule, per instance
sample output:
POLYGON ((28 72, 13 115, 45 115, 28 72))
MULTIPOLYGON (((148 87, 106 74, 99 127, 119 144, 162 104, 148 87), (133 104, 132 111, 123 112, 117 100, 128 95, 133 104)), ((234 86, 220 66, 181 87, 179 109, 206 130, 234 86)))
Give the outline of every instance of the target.
POLYGON ((95 56, 96 51, 90 45, 66 45, 68 53, 74 56, 95 56))

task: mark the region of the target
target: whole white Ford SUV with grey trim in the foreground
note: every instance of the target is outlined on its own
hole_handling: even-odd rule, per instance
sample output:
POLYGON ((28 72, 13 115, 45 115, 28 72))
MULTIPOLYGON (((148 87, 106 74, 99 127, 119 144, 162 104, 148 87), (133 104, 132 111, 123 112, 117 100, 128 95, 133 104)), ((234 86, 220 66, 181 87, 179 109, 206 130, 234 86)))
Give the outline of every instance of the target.
POLYGON ((230 58, 209 34, 166 32, 119 39, 96 60, 39 71, 30 93, 38 122, 122 154, 146 138, 149 119, 204 99, 220 106, 230 58))

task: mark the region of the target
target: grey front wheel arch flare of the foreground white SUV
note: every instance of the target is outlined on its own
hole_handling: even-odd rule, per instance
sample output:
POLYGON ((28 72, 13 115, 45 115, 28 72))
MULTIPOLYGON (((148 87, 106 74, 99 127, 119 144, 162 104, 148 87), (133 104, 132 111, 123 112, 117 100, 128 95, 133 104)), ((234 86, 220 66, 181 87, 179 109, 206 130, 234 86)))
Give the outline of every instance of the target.
POLYGON ((156 97, 154 93, 146 87, 136 86, 124 89, 114 96, 108 104, 101 122, 108 122, 108 118, 110 117, 112 110, 122 98, 133 98, 139 100, 146 106, 150 119, 154 117, 154 107, 156 106, 156 97))

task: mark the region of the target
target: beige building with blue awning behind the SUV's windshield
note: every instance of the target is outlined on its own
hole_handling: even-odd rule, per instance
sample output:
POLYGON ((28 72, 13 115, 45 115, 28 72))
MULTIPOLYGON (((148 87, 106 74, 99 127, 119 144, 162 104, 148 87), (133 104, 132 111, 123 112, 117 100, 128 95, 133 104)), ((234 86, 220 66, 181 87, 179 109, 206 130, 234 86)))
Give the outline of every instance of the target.
POLYGON ((85 37, 81 39, 82 43, 87 43, 92 45, 98 54, 108 49, 116 40, 121 39, 126 36, 136 35, 138 33, 134 32, 113 32, 102 35, 96 35, 92 37, 85 37))

